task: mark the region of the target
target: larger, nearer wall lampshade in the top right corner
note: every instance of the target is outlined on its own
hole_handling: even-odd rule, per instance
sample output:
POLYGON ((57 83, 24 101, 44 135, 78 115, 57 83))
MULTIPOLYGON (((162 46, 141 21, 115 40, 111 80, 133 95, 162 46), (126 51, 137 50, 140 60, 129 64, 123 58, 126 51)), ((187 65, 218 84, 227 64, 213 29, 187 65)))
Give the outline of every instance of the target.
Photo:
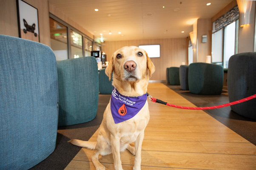
POLYGON ((236 0, 240 13, 240 26, 243 27, 250 23, 250 9, 252 0, 236 0))

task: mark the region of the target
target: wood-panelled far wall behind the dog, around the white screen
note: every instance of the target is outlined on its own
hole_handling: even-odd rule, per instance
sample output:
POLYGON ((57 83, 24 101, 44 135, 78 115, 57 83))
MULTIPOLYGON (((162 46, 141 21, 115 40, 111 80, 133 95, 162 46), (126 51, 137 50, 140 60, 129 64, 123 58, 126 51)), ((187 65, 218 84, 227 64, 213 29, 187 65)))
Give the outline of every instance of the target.
POLYGON ((166 80, 167 67, 179 67, 182 62, 188 64, 188 40, 187 38, 175 39, 142 39, 129 41, 105 42, 103 51, 110 61, 112 54, 124 46, 160 45, 160 58, 151 58, 156 71, 150 80, 166 80))

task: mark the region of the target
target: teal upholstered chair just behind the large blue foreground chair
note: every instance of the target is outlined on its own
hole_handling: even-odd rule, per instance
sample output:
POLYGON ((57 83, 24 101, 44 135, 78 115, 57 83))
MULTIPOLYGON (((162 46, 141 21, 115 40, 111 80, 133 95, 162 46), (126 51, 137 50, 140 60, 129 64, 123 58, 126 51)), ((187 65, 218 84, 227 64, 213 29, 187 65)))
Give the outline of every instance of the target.
POLYGON ((99 73, 95 57, 57 61, 59 84, 58 126, 94 119, 99 99, 99 73))

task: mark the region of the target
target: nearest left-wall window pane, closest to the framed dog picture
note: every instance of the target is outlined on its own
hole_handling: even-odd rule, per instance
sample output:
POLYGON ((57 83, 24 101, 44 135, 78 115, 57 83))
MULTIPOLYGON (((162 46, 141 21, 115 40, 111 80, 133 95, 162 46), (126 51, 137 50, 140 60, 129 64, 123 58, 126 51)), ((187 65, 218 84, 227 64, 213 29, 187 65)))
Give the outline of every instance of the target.
POLYGON ((68 59, 67 27, 50 18, 51 49, 56 60, 68 59))

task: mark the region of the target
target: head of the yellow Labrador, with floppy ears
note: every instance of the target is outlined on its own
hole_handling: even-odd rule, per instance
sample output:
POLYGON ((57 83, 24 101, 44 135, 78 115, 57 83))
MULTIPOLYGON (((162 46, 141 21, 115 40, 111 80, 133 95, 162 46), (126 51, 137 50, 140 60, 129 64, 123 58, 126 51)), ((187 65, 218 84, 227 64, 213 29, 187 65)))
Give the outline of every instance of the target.
POLYGON ((113 71, 113 77, 119 81, 138 82, 148 76, 151 77, 155 71, 155 66, 145 50, 130 46, 122 47, 112 55, 105 70, 109 81, 113 71))

